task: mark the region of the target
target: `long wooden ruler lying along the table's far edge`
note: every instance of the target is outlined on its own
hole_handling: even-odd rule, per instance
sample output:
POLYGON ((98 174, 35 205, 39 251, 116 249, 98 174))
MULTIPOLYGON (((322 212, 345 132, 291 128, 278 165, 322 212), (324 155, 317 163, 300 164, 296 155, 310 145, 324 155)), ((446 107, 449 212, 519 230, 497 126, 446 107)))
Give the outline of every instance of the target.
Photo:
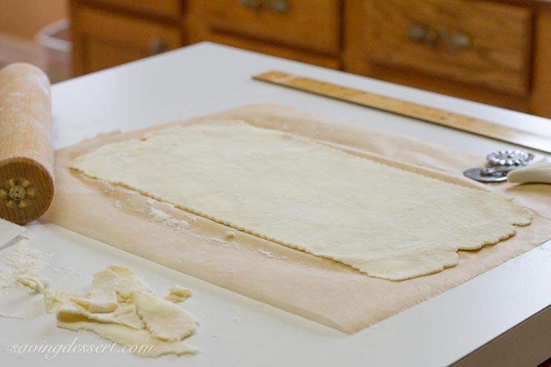
POLYGON ((452 129, 458 129, 463 132, 469 132, 487 138, 551 153, 551 121, 547 132, 537 134, 515 129, 513 127, 498 125, 496 123, 490 123, 489 121, 480 120, 479 118, 455 114, 454 112, 444 111, 443 109, 418 105, 417 103, 343 87, 337 84, 325 83, 311 78, 285 74, 283 72, 270 71, 254 75, 252 78, 257 81, 266 81, 268 83, 283 85, 295 90, 302 90, 304 92, 319 94, 320 96, 335 98, 340 101, 347 101, 374 109, 380 109, 385 112, 392 112, 393 114, 417 118, 429 123, 452 127, 452 129))

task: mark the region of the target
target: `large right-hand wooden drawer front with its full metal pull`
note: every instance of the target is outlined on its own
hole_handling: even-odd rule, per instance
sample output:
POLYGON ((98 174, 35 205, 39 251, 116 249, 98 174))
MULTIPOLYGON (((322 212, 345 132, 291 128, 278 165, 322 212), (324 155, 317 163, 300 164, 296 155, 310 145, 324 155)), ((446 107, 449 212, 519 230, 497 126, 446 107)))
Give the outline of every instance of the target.
POLYGON ((527 8, 463 0, 364 1, 372 63, 528 94, 527 8))

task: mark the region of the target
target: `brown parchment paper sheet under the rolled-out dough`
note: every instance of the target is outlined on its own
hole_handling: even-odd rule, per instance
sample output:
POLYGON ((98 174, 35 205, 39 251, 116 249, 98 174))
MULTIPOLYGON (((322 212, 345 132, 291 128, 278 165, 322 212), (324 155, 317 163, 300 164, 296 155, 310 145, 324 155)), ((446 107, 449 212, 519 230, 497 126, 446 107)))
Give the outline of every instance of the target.
POLYGON ((105 134, 56 151, 57 192, 43 220, 345 333, 355 333, 551 238, 551 185, 505 183, 489 186, 461 175, 463 169, 484 162, 482 157, 336 123, 288 107, 249 105, 135 132, 105 134), (509 240, 478 251, 459 251, 459 265, 452 269, 392 282, 368 277, 332 260, 317 258, 234 229, 236 237, 228 239, 226 231, 230 228, 223 224, 67 168, 74 157, 106 143, 140 138, 146 132, 169 125, 228 118, 309 136, 352 154, 459 185, 503 191, 537 215, 530 226, 519 227, 517 234, 509 240), (190 229, 182 231, 154 222, 148 214, 152 206, 185 220, 190 229))

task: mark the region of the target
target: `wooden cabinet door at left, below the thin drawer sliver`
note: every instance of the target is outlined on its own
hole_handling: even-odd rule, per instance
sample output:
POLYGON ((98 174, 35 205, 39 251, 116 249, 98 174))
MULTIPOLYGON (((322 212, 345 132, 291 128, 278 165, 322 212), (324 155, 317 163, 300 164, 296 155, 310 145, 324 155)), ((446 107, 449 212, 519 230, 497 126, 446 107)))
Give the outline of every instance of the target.
POLYGON ((179 28, 86 6, 72 10, 76 75, 181 47, 179 28))

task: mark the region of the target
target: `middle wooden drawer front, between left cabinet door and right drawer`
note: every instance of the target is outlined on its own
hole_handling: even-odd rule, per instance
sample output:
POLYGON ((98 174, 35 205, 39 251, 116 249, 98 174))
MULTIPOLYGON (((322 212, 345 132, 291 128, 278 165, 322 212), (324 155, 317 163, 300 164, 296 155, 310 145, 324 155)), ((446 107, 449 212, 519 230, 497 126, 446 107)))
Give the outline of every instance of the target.
POLYGON ((325 54, 339 53, 339 0, 217 0, 204 5, 206 21, 213 30, 325 54), (278 8, 281 3, 288 7, 278 8))

